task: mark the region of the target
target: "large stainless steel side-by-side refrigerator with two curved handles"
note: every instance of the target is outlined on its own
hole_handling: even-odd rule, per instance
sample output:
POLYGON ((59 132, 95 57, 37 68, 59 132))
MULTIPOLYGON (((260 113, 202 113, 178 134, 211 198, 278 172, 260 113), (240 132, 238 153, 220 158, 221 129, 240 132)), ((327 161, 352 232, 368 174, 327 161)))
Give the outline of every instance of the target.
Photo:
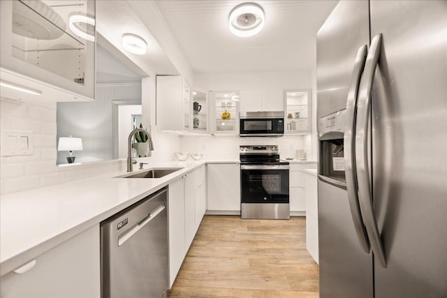
POLYGON ((447 297, 447 1, 341 1, 317 34, 321 297, 447 297))

